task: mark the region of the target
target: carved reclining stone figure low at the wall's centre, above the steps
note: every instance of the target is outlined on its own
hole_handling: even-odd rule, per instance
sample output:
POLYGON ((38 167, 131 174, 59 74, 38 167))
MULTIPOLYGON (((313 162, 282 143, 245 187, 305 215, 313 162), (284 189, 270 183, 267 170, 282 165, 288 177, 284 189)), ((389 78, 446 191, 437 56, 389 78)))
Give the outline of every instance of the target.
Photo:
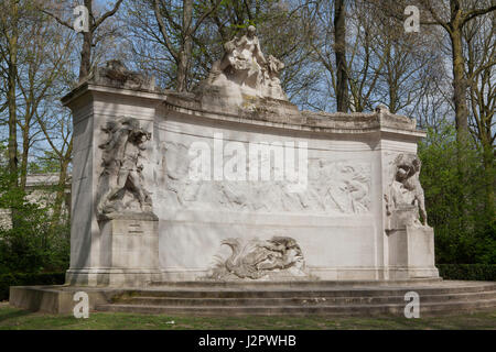
POLYGON ((309 276, 303 253, 292 238, 226 239, 222 244, 228 245, 231 254, 227 258, 217 256, 217 264, 207 278, 274 279, 309 276))

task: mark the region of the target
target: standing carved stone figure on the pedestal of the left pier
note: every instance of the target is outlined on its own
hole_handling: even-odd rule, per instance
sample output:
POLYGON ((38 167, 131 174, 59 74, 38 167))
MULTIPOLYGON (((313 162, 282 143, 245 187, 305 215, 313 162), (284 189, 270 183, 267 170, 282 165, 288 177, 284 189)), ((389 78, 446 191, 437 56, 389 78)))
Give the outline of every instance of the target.
POLYGON ((150 132, 132 118, 109 121, 101 130, 108 139, 99 145, 104 150, 104 170, 99 179, 98 212, 151 212, 152 201, 143 187, 141 164, 150 132))

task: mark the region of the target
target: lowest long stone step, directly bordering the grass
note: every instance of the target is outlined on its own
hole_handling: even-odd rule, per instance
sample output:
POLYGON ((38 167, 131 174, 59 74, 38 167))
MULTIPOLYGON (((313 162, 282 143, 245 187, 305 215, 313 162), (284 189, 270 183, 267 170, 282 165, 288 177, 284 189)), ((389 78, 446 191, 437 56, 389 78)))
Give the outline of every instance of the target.
MULTIPOLYGON (((406 304, 387 305, 323 305, 301 306, 187 306, 168 307, 150 305, 110 304, 96 306, 97 311, 121 311, 140 314, 166 314, 190 316, 403 316, 406 304)), ((496 299, 475 301, 424 302, 420 305, 420 315, 453 314, 496 308, 496 299)))

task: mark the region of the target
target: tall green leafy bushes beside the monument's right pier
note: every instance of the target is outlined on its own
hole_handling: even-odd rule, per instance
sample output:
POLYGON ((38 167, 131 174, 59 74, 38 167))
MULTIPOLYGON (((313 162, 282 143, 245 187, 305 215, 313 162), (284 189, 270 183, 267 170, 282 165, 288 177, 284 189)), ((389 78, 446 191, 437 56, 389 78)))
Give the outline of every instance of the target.
POLYGON ((436 262, 495 264, 496 224, 485 210, 479 148, 460 145, 455 129, 448 125, 428 131, 419 156, 429 224, 435 232, 436 262), (464 178, 460 177, 459 157, 463 160, 464 178))

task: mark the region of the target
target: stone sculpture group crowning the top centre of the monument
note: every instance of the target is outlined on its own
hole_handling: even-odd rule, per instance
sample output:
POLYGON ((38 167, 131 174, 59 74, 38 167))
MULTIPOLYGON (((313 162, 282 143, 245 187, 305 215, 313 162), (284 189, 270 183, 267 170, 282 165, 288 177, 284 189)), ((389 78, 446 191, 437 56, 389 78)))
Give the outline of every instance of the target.
POLYGON ((224 44, 224 56, 212 66, 207 82, 248 96, 288 100, 279 80, 284 64, 272 55, 263 56, 255 32, 250 25, 246 35, 224 44))

